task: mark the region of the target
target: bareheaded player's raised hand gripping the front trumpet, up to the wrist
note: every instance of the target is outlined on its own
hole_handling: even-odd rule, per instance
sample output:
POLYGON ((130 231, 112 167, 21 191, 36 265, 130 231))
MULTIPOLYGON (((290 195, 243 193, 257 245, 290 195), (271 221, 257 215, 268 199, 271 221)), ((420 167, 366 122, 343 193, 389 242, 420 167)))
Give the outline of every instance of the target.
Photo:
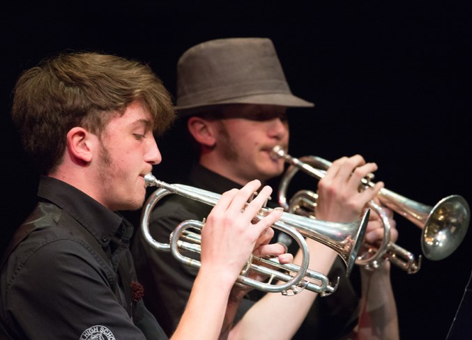
POLYGON ((284 247, 268 245, 274 233, 271 225, 280 218, 282 210, 271 210, 259 221, 252 222, 272 193, 272 188, 265 186, 248 203, 260 186, 259 180, 252 180, 241 190, 233 189, 222 194, 201 231, 200 271, 207 270, 213 276, 218 273, 220 279, 234 282, 252 252, 257 256, 281 255, 282 261, 287 261, 284 247))

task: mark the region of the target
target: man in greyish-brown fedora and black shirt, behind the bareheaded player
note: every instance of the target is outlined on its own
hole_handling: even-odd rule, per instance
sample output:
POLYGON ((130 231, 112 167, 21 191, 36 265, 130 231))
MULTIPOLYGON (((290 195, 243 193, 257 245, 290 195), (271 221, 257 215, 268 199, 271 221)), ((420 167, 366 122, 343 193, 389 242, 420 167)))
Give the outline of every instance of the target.
MULTIPOLYGON (((274 160, 271 150, 277 145, 288 149, 287 108, 314 105, 291 93, 271 40, 229 38, 203 42, 181 56, 177 74, 176 111, 185 121, 199 156, 181 183, 221 193, 254 178, 266 182, 284 171, 284 161, 274 160)), ((375 170, 376 164, 366 163, 360 155, 333 162, 319 181, 317 218, 332 222, 357 219, 383 186, 379 182, 372 190, 358 191, 361 178, 375 170)), ((269 201, 268 206, 275 203, 269 201)), ((201 220, 210 210, 203 203, 168 196, 151 214, 151 235, 166 240, 180 222, 201 220)), ((391 217, 391 211, 386 211, 391 217)), ((391 222, 395 226, 393 219, 391 222)), ((287 235, 277 234, 279 242, 286 242, 287 235)), ((365 240, 373 243, 381 237, 381 224, 373 216, 365 240)), ((395 228, 391 238, 393 242, 397 238, 395 228)), ((298 249, 296 242, 292 243, 287 246, 294 254, 298 249)), ((238 314, 231 338, 349 339, 357 333, 363 339, 397 339, 390 263, 376 271, 360 270, 359 299, 339 256, 314 240, 307 239, 307 244, 310 269, 329 272, 330 278, 340 277, 337 291, 320 298, 309 291, 292 297, 252 291, 234 301, 238 314)), ((132 250, 149 297, 146 304, 165 331, 172 334, 197 270, 182 265, 171 254, 156 252, 139 234, 132 250)), ((298 253, 295 261, 300 261, 298 253)), ((218 289, 218 282, 208 289, 218 289)), ((227 320, 232 320, 233 312, 227 310, 227 320)))

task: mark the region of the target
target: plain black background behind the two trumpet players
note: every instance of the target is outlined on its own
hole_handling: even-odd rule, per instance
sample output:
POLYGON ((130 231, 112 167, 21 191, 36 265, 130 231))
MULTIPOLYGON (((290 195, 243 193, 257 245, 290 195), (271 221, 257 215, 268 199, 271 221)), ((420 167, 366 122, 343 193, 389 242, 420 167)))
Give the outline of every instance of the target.
MULTIPOLYGON (((37 183, 9 120, 10 93, 22 70, 64 49, 149 63, 174 94, 188 47, 271 38, 291 90, 316 104, 290 116, 292 155, 360 153, 379 165, 376 180, 410 199, 472 201, 467 1, 17 1, 0 19, 2 245, 37 183)), ((158 141, 155 172, 170 182, 189 157, 177 127, 158 141)), ((397 228, 397 244, 418 256, 420 229, 402 217, 397 228)), ((445 339, 471 273, 471 238, 443 261, 425 259, 416 275, 393 269, 402 339, 445 339)))

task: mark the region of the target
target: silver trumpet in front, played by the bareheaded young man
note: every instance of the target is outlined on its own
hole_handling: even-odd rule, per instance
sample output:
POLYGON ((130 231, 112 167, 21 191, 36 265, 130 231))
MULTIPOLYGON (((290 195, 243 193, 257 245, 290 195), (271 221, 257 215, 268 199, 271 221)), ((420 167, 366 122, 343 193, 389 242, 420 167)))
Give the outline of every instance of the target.
MULTIPOLYGON (((146 174, 144 180, 147 187, 154 186, 159 188, 149 196, 142 210, 141 228, 146 242, 153 249, 160 252, 172 252, 172 255, 185 265, 200 268, 201 263, 199 261, 183 256, 180 251, 186 250, 198 254, 201 253, 200 231, 204 222, 196 220, 181 222, 172 231, 169 236, 169 243, 167 244, 154 240, 149 232, 149 217, 155 204, 168 194, 179 194, 210 206, 215 206, 220 200, 221 195, 188 185, 168 184, 157 180, 151 173, 146 174), (194 229, 194 231, 190 231, 190 229, 194 229)), ((268 215, 269 212, 271 212, 271 209, 262 208, 254 219, 260 220, 268 215)), ((287 233, 298 242, 303 252, 302 263, 300 265, 294 265, 293 263, 280 264, 277 258, 255 258, 251 256, 247 265, 241 271, 241 275, 238 276, 236 284, 251 286, 252 288, 271 293, 282 293, 283 295, 294 295, 303 289, 319 293, 322 296, 330 295, 336 290, 337 284, 331 286, 328 277, 308 268, 310 254, 303 236, 317 240, 334 249, 342 257, 344 263, 346 263, 347 275, 349 275, 353 265, 356 263, 368 220, 369 210, 365 212, 362 218, 350 223, 325 222, 282 212, 282 217, 273 224, 273 227, 287 233), (249 270, 266 275, 268 277, 267 282, 247 277, 249 270), (296 274, 290 275, 289 272, 296 274), (274 280, 278 281, 277 284, 273 284, 274 280)), ((337 280, 339 281, 339 277, 337 280)))

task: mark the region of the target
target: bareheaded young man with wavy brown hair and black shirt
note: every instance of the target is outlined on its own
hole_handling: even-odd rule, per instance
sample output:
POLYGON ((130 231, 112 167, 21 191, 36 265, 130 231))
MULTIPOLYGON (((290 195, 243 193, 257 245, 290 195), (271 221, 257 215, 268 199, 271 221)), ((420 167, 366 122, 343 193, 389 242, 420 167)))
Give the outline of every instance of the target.
MULTIPOLYGON (((144 177, 161 161, 154 133, 174 110, 160 79, 118 56, 59 54, 20 76, 12 116, 43 176, 2 258, 0 338, 167 339, 142 301, 133 227, 117 212, 142 207, 144 177)), ((252 222, 271 194, 264 187, 247 204, 260 185, 225 192, 208 215, 201 269, 172 339, 227 336, 241 294, 234 282, 252 252, 291 261, 267 244, 280 212, 252 222)))

